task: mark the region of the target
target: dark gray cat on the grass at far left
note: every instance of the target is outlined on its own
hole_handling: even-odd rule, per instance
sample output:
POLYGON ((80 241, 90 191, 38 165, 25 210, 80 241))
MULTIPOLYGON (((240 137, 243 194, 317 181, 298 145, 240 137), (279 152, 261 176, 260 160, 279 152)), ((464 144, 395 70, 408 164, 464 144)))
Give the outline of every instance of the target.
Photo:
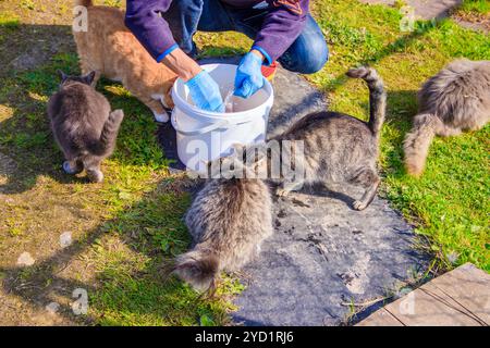
POLYGON ((63 170, 77 174, 85 169, 88 178, 99 183, 103 179, 100 162, 112 154, 124 114, 111 112, 106 97, 90 86, 95 72, 85 76, 59 73, 60 90, 48 101, 48 115, 66 160, 63 170))

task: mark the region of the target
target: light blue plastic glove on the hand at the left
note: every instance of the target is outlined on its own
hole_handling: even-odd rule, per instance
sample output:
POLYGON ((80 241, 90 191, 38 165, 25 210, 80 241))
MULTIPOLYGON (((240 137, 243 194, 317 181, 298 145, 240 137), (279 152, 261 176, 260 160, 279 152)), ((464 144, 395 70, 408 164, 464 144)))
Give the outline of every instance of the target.
POLYGON ((224 112, 220 87, 207 71, 201 71, 185 85, 188 87, 191 98, 193 98, 197 108, 206 111, 224 112))

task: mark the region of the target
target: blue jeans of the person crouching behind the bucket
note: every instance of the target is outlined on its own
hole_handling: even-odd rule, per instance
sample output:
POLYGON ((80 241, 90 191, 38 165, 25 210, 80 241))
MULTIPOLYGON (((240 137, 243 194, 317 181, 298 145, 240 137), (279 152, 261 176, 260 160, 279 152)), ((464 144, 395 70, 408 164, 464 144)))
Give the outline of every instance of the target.
MULTIPOLYGON (((220 0, 174 0, 163 17, 180 48, 187 54, 195 55, 193 36, 197 30, 233 30, 255 39, 267 13, 266 2, 250 9, 235 9, 220 0)), ((322 69, 328 59, 329 50, 323 34, 308 15, 302 34, 281 55, 279 62, 289 71, 313 74, 322 69)))

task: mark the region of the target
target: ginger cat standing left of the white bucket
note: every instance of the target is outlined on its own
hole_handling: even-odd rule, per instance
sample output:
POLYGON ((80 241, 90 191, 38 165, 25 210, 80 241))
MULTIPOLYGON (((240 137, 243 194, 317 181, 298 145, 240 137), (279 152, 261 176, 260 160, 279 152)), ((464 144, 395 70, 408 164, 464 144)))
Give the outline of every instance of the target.
POLYGON ((157 122, 169 121, 164 108, 173 108, 170 96, 176 74, 157 63, 124 25, 124 12, 110 7, 95 7, 91 0, 75 0, 87 8, 88 30, 73 30, 82 74, 96 72, 120 82, 147 105, 157 122))

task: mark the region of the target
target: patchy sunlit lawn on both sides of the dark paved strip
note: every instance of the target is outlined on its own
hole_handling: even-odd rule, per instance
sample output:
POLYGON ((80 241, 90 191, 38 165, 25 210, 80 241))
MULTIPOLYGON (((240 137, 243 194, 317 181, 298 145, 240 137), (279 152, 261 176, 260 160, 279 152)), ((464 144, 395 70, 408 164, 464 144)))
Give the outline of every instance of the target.
MULTIPOLYGON (((331 58, 307 78, 324 91, 330 109, 366 116, 366 88, 344 77, 353 65, 371 64, 388 86, 381 195, 427 239, 434 272, 468 261, 489 272, 490 126, 436 139, 420 179, 405 175, 401 146, 420 84, 454 58, 489 59, 488 35, 452 20, 419 22, 404 33, 396 9, 355 0, 313 3, 331 58)), ((230 299, 243 289, 235 277, 224 278, 215 297, 203 298, 169 276, 173 257, 189 241, 182 222, 189 181, 169 174, 157 126, 144 105, 120 85, 102 80, 98 89, 126 114, 118 150, 103 164, 106 182, 88 185, 60 171, 62 156, 49 132, 46 102, 58 86, 57 69, 78 72, 70 4, 0 3, 0 60, 11 62, 29 46, 48 57, 33 69, 28 60, 26 69, 22 61, 0 67, 0 154, 15 162, 0 174, 0 294, 9 293, 0 323, 51 323, 39 315, 57 301, 62 323, 226 324, 234 309, 230 299), (50 42, 58 42, 56 49, 50 42), (60 248, 59 236, 66 231, 75 243, 60 248), (23 251, 36 259, 33 266, 16 266, 23 251), (89 295, 84 315, 74 316, 69 308, 75 288, 89 295)), ((250 44, 230 33, 199 34, 196 41, 203 57, 240 54, 250 44)), ((8 167, 3 162, 0 156, 0 170, 8 167)))

